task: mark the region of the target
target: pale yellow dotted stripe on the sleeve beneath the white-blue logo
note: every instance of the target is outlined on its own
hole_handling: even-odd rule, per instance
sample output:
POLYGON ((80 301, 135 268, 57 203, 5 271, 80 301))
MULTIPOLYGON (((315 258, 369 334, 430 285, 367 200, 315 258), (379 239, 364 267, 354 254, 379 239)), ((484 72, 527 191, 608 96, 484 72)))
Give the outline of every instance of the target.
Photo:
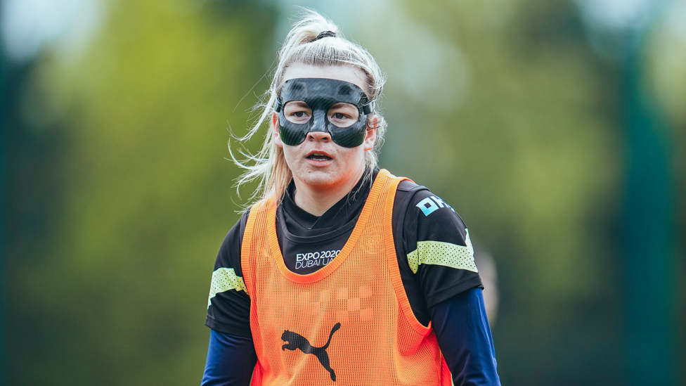
POLYGON ((474 248, 469 231, 465 241, 466 247, 441 241, 419 241, 417 249, 408 254, 410 269, 416 274, 421 264, 434 264, 479 272, 477 264, 474 264, 474 248))

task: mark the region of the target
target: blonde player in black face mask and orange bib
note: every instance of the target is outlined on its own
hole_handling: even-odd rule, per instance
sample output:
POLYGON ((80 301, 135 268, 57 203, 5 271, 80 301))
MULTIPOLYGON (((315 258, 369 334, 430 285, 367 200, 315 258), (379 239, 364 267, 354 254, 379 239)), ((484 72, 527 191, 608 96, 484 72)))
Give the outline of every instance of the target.
POLYGON ((314 11, 287 35, 239 181, 259 200, 214 265, 202 385, 500 385, 465 224, 377 169, 384 80, 314 11))

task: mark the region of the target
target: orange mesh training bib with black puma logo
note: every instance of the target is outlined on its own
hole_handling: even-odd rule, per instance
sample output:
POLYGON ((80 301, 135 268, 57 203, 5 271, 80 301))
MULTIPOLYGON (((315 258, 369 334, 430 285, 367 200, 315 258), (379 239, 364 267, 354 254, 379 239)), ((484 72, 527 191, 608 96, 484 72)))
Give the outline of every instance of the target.
POLYGON ((400 278, 391 214, 402 180, 379 172, 346 245, 309 275, 283 262, 274 200, 252 208, 241 251, 259 359, 252 385, 451 385, 400 278))

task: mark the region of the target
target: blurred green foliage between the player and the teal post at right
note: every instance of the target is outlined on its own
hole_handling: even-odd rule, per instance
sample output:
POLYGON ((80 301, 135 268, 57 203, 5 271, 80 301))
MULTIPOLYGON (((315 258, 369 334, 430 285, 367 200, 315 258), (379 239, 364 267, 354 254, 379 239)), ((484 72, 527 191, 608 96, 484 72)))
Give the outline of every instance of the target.
POLYGON ((405 4, 462 60, 434 89, 389 98, 384 165, 450 202, 496 257, 503 385, 620 385, 613 65, 564 1, 405 4), (437 110, 459 87, 462 104, 437 110))

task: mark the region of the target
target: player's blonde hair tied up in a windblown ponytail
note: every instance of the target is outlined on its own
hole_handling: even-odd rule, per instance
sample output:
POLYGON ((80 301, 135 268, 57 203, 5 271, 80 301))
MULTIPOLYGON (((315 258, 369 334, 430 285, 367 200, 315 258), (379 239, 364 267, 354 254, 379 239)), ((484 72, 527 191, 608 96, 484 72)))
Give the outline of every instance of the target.
MULTIPOLYGON (((283 148, 279 148, 274 143, 273 132, 275 128, 273 120, 270 118, 274 113, 276 97, 283 85, 284 73, 290 65, 294 64, 318 67, 348 66, 361 70, 366 78, 365 93, 370 101, 376 101, 375 104, 378 103, 386 82, 386 75, 366 49, 345 39, 337 25, 328 18, 311 9, 302 8, 299 18, 293 24, 283 46, 278 51, 278 65, 271 86, 254 107, 255 111, 260 111, 259 119, 250 127, 250 131, 245 136, 238 138, 238 141, 242 142, 250 140, 254 134, 257 134, 260 127, 268 122, 262 148, 256 155, 243 153, 247 159, 242 162, 236 160, 231 153, 236 165, 245 169, 245 172, 238 178, 238 189, 247 182, 259 181, 250 198, 254 200, 259 197, 257 202, 270 197, 276 198, 277 203, 280 202, 292 179, 291 170, 286 165, 283 155, 283 148), (335 37, 317 39, 318 35, 325 31, 334 32, 335 37)), ((368 127, 375 128, 377 131, 374 148, 365 151, 365 166, 369 171, 368 177, 370 178, 370 171, 377 167, 378 154, 383 144, 387 122, 377 108, 375 108, 375 112, 367 115, 367 119, 368 127), (377 122, 370 125, 370 120, 374 118, 377 119, 377 122)), ((229 151, 231 152, 231 146, 229 146, 229 151)))

